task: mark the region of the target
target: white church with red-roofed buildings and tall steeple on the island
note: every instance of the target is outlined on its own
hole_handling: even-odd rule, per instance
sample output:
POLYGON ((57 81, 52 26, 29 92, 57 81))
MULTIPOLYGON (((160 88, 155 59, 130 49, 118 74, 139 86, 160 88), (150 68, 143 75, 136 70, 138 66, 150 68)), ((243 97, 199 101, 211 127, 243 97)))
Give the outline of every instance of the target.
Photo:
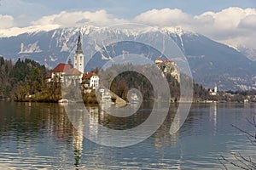
POLYGON ((77 43, 77 49, 73 55, 72 60, 68 59, 66 63, 60 63, 50 71, 49 76, 46 77, 47 82, 58 82, 70 85, 71 83, 80 83, 84 89, 99 88, 99 77, 94 72, 84 73, 84 53, 82 50, 81 36, 77 43))

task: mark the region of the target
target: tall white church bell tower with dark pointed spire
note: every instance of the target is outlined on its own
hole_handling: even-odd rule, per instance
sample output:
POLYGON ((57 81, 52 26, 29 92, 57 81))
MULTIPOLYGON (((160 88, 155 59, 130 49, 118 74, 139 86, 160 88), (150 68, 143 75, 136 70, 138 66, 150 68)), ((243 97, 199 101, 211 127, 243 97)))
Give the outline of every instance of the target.
POLYGON ((77 50, 73 55, 73 68, 78 69, 80 72, 84 72, 84 53, 82 50, 80 35, 79 35, 79 41, 77 43, 77 50))

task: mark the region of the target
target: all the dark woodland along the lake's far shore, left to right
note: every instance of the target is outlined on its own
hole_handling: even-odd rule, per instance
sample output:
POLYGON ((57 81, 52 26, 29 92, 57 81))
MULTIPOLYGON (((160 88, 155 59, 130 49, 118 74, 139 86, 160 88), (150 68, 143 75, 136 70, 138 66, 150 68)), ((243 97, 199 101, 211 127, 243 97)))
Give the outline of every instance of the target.
MULTIPOLYGON (((103 86, 108 86, 122 99, 126 99, 126 94, 129 89, 137 88, 143 94, 143 100, 154 99, 154 88, 147 77, 138 72, 148 71, 148 67, 153 65, 112 65, 106 70, 96 69, 95 72, 99 73, 100 83, 103 86), (125 67, 136 68, 137 71, 121 71, 125 67), (120 72, 120 74, 117 74, 120 72), (111 77, 116 77, 111 80, 111 77)), ((154 70, 149 69, 150 74, 154 75, 154 70)), ((29 101, 41 102, 57 102, 61 99, 61 84, 55 82, 46 82, 45 77, 49 74, 49 70, 44 65, 39 65, 32 59, 18 59, 15 65, 11 60, 0 57, 0 99, 10 99, 14 101, 27 101, 27 97, 32 95, 29 101)), ((175 102, 179 99, 180 87, 177 79, 172 77, 171 74, 166 74, 166 80, 170 88, 172 101, 175 102)), ((185 75, 181 74, 181 77, 185 75)), ((155 76, 156 77, 156 76, 155 76)), ((159 87, 161 83, 159 83, 159 87)), ((194 101, 216 100, 227 102, 243 102, 247 96, 254 96, 251 101, 256 101, 256 90, 249 91, 218 91, 218 95, 211 96, 208 93, 209 89, 204 88, 198 83, 193 83, 194 88, 194 101)), ((88 95, 88 94, 87 94, 88 95)), ((88 96, 83 95, 86 100, 88 96)), ((90 95, 91 98, 91 95, 90 95)), ((90 99, 91 100, 91 99, 90 99)), ((95 99, 93 99, 95 100, 95 99)))

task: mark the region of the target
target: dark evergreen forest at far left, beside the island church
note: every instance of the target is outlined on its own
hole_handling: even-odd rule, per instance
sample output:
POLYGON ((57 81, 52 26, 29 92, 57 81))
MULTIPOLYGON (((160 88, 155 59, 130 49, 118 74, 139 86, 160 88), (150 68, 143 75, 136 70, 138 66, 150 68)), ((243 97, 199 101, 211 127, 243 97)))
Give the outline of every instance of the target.
POLYGON ((18 59, 13 65, 11 60, 0 57, 0 69, 0 99, 21 100, 46 90, 48 70, 32 59, 18 59))

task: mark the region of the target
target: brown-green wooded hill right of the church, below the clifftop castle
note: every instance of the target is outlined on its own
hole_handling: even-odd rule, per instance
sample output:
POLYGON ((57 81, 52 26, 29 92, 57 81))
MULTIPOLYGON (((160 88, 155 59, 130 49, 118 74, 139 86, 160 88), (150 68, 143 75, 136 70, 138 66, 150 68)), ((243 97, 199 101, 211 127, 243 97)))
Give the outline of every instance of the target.
MULTIPOLYGON (((106 70, 100 71, 99 75, 103 77, 103 79, 101 79, 101 83, 104 86, 108 86, 108 84, 110 83, 111 91, 113 91, 113 93, 117 94, 122 99, 127 100, 126 94, 128 93, 129 89, 137 88, 142 93, 143 100, 148 101, 154 99, 155 89, 153 88, 148 78, 143 75, 143 72, 145 73, 147 71, 151 71, 148 73, 149 75, 153 75, 151 77, 151 81, 157 82, 158 75, 155 74, 155 72, 159 70, 156 67, 152 67, 154 67, 154 65, 112 65, 111 67, 108 67, 106 70), (113 77, 113 75, 117 75, 118 72, 120 72, 118 76, 114 77, 112 80, 111 77, 113 77)), ((181 77, 186 77, 186 75, 181 74, 181 77)), ((171 74, 166 74, 165 78, 168 82, 172 102, 176 102, 180 98, 180 84, 179 82, 177 82, 177 79, 175 77, 172 77, 171 74)), ((158 82, 158 88, 161 88, 161 86, 161 82, 158 82)), ((193 87, 194 100, 205 100, 209 98, 207 89, 203 88, 202 85, 193 82, 193 87)))

